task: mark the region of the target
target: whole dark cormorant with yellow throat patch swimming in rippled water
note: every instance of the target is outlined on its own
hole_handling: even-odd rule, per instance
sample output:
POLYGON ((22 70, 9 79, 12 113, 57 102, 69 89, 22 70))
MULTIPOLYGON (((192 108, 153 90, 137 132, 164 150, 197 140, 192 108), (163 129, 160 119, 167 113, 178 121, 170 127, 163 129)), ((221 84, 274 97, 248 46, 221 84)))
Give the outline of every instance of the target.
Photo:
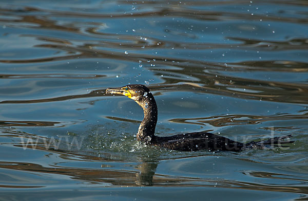
POLYGON ((293 142, 290 140, 283 140, 292 137, 292 135, 248 143, 237 142, 219 135, 205 132, 185 133, 169 137, 155 136, 157 105, 153 95, 146 86, 142 84, 134 84, 120 88, 107 88, 106 94, 121 94, 136 101, 143 108, 144 112, 144 119, 139 126, 137 139, 147 144, 158 145, 162 148, 181 151, 241 151, 245 148, 264 147, 266 145, 277 146, 293 142))

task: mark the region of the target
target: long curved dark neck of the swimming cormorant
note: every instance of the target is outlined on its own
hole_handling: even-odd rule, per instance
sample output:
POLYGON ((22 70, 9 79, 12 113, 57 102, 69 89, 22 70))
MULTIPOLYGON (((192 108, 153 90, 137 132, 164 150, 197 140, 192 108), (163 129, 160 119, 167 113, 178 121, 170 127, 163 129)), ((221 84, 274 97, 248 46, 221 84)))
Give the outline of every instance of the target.
POLYGON ((141 100, 136 101, 142 108, 144 119, 142 120, 137 139, 139 141, 149 142, 155 134, 155 127, 157 123, 157 105, 151 93, 148 93, 141 100))

